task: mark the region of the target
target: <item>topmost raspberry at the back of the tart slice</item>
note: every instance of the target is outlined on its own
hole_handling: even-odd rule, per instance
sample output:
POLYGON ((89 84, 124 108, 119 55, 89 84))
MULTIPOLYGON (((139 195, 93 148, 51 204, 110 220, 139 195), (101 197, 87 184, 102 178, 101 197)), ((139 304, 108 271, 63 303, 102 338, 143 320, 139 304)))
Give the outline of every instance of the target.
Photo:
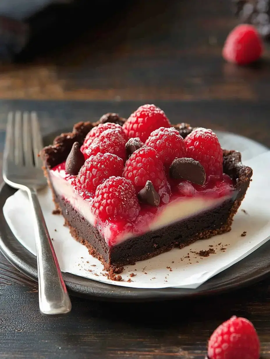
POLYGON ((165 113, 155 105, 143 105, 132 113, 123 130, 128 138, 139 137, 145 143, 151 132, 160 127, 171 127, 165 113))

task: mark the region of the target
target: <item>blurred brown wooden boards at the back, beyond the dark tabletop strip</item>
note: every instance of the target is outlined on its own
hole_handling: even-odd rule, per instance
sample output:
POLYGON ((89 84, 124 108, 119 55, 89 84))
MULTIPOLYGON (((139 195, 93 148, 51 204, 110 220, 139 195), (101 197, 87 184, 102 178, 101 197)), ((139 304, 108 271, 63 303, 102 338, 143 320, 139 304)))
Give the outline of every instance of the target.
POLYGON ((230 0, 129 1, 73 43, 0 69, 0 97, 134 100, 268 99, 270 51, 254 67, 221 50, 236 25, 230 0))

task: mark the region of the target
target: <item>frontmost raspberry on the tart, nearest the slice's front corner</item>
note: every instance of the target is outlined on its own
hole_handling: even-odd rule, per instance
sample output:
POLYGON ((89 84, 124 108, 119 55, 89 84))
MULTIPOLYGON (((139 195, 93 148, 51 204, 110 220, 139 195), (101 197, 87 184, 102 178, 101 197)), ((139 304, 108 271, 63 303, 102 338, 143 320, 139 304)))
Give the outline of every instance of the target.
POLYGON ((123 177, 108 178, 96 189, 93 210, 101 221, 135 219, 140 206, 132 183, 123 177))

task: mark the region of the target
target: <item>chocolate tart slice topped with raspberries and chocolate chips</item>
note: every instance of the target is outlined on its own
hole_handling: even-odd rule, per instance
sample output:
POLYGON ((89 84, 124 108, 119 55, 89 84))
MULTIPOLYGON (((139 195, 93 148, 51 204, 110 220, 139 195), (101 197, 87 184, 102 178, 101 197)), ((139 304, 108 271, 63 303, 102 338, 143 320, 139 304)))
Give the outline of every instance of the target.
POLYGON ((72 236, 115 273, 228 232, 252 176, 212 130, 171 125, 154 105, 79 122, 41 156, 72 236))

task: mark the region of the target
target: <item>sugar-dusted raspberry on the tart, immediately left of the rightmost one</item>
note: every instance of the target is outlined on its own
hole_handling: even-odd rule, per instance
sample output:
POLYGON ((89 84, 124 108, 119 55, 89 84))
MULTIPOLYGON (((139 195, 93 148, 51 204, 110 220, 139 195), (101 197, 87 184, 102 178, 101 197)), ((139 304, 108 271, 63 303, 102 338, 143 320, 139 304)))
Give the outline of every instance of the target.
POLYGON ((169 167, 176 158, 186 157, 184 139, 173 127, 160 127, 151 132, 145 145, 157 151, 165 167, 169 167))

